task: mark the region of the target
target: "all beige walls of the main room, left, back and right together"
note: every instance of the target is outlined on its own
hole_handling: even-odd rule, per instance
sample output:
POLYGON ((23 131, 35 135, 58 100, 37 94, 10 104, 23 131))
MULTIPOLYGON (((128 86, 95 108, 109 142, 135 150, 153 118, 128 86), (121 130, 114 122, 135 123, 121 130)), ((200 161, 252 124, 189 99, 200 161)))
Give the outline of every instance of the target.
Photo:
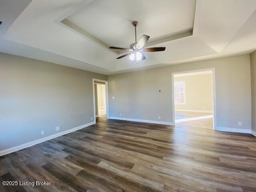
MULTIPOLYGON (((122 113, 122 118, 173 122, 171 73, 204 68, 216 70, 217 126, 253 126, 255 131, 255 52, 250 57, 247 54, 108 76, 110 116, 120 117, 122 113)), ((107 79, 101 74, 0 53, 0 151, 56 134, 56 126, 62 132, 92 122, 92 78, 107 79)))

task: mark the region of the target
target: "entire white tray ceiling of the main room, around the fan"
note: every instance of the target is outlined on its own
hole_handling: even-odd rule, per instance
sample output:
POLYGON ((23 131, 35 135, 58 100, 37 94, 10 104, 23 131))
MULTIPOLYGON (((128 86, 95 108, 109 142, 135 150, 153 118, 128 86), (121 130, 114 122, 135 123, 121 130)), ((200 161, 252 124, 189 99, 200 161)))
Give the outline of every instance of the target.
POLYGON ((0 0, 0 52, 53 62, 102 74, 115 74, 256 50, 255 0, 0 0), (149 3, 150 2, 150 3, 149 3), (167 40, 164 52, 146 60, 116 60, 118 54, 61 23, 68 19, 111 46, 191 30, 167 40))

